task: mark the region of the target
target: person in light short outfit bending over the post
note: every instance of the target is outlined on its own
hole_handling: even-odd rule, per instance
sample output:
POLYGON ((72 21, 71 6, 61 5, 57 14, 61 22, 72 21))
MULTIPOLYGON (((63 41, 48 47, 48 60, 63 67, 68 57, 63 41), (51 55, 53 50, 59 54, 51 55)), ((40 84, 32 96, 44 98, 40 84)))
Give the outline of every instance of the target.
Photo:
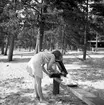
POLYGON ((51 53, 48 51, 39 52, 28 62, 27 71, 30 76, 35 79, 36 98, 38 98, 40 102, 44 101, 41 87, 43 72, 50 76, 51 72, 55 72, 52 65, 57 61, 62 61, 62 54, 60 51, 55 50, 51 53), (44 68, 45 64, 47 64, 47 70, 44 68))

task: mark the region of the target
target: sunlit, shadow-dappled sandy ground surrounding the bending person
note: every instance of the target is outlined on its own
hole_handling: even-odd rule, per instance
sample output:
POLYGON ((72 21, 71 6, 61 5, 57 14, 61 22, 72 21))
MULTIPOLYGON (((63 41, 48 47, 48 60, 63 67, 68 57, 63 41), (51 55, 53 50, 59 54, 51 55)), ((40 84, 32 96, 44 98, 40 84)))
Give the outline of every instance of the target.
MULTIPOLYGON (((33 51, 15 51, 11 62, 0 55, 0 105, 34 105, 34 80, 26 72, 32 55, 33 51)), ((104 52, 88 52, 87 60, 83 61, 82 52, 70 51, 64 56, 64 63, 81 88, 94 94, 104 92, 104 52)), ((54 96, 52 82, 44 74, 43 93, 50 105, 86 105, 63 89, 54 96)))

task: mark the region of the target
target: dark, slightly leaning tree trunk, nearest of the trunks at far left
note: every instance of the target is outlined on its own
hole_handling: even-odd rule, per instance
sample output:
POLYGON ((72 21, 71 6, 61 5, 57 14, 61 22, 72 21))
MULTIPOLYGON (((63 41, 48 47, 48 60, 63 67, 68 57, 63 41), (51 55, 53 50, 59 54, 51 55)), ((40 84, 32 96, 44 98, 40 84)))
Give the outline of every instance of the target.
POLYGON ((11 35, 10 48, 9 48, 9 54, 8 54, 8 61, 12 61, 13 49, 14 49, 14 35, 11 35))

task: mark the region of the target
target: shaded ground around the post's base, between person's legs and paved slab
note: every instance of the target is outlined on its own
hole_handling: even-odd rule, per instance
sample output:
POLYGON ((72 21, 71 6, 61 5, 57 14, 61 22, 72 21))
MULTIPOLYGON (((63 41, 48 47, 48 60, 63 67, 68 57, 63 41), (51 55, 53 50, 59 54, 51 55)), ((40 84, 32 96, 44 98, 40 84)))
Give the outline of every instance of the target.
POLYGON ((59 94, 53 95, 53 86, 45 85, 43 91, 47 91, 45 97, 50 105, 86 105, 76 96, 74 96, 70 91, 60 88, 59 94))

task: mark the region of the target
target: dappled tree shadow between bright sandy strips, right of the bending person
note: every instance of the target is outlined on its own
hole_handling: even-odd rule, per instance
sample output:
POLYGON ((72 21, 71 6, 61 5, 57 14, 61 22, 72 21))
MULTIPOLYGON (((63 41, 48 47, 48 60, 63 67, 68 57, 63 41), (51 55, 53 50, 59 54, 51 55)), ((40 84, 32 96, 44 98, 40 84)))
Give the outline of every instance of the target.
POLYGON ((75 79, 75 80, 81 80, 81 81, 92 81, 96 82, 99 80, 104 79, 104 72, 103 70, 98 71, 95 69, 88 69, 88 68, 83 68, 83 69, 72 69, 68 70, 68 73, 75 79))

